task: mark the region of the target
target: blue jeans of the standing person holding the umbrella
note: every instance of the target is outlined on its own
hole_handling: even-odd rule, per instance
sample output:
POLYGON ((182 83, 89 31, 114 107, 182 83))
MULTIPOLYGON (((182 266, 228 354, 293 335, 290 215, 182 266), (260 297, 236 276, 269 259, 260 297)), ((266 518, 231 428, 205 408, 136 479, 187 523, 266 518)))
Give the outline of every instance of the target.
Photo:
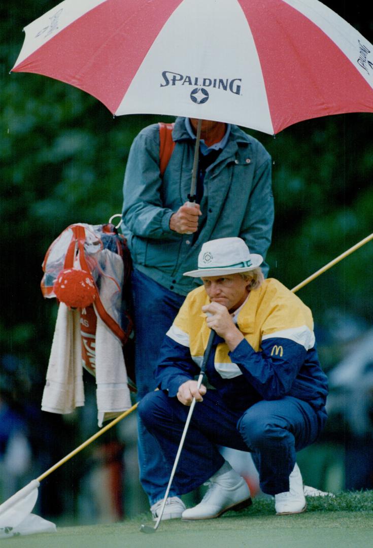
MULTIPOLYGON (((131 276, 135 323, 135 374, 137 399, 156 388, 154 373, 164 335, 171 327, 185 297, 177 295, 134 270, 131 276)), ((150 504, 163 498, 170 478, 157 440, 146 430, 141 419, 138 425, 140 482, 150 504)), ((174 490, 170 496, 177 495, 174 490)))

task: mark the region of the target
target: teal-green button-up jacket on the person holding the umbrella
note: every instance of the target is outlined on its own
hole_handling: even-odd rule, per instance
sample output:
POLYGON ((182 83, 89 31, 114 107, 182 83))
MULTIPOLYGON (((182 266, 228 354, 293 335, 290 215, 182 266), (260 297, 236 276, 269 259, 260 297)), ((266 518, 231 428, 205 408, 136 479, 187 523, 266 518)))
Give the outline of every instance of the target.
MULTIPOLYGON (((206 219, 193 243, 192 236, 169 227, 171 215, 187 201, 191 186, 194 141, 184 118, 176 118, 173 140, 175 149, 162 180, 158 124, 134 139, 124 177, 122 232, 135 268, 186 295, 202 283, 183 272, 196 268, 203 242, 239 236, 250 252, 266 256, 273 225, 271 157, 259 141, 231 126, 225 148, 206 169, 200 203, 206 219)), ((268 271, 265 264, 263 271, 268 271)))

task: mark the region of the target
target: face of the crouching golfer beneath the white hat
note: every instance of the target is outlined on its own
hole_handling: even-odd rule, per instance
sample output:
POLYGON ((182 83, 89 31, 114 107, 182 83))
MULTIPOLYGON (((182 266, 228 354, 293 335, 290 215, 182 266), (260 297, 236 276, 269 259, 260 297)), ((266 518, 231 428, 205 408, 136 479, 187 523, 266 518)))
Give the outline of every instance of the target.
POLYGON ((202 281, 210 301, 226 306, 229 312, 237 310, 249 294, 250 280, 243 279, 239 274, 211 276, 202 278, 202 281))

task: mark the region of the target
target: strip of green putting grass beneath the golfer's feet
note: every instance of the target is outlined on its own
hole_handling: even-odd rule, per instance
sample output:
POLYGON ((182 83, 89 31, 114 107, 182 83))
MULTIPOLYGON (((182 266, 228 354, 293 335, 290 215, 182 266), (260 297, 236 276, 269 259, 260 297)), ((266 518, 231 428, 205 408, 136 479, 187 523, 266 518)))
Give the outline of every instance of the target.
POLYGON ((54 534, 3 542, 9 548, 367 548, 373 544, 373 491, 308 497, 307 504, 305 513, 276 516, 273 500, 257 498, 249 509, 227 512, 216 520, 161 522, 151 535, 139 532, 141 523, 152 525, 146 514, 123 523, 60 527, 54 534))

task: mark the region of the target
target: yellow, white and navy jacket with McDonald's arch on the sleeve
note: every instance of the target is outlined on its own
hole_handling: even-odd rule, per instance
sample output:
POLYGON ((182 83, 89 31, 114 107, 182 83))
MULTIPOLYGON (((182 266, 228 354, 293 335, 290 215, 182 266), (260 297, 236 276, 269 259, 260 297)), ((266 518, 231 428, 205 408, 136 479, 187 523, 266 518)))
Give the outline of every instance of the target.
MULTIPOLYGON (((202 312, 208 303, 204 287, 190 292, 165 336, 157 383, 171 397, 199 373, 210 334, 202 312)), ((261 399, 294 396, 324 409, 328 382, 315 349, 312 313, 294 293, 266 279, 249 294, 237 327, 244 340, 229 352, 215 334, 206 365, 209 383, 230 407, 247 409, 261 399)))

